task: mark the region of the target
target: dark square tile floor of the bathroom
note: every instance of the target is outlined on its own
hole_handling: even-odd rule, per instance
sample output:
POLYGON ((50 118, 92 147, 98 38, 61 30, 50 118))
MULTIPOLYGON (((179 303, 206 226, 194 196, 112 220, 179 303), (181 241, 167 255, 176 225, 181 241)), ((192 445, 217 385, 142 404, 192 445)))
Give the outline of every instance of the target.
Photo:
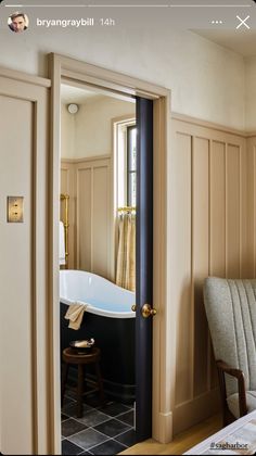
POLYGON ((99 405, 97 394, 89 395, 81 418, 76 416, 76 401, 66 391, 62 407, 63 455, 116 455, 135 445, 132 405, 107 401, 99 405))

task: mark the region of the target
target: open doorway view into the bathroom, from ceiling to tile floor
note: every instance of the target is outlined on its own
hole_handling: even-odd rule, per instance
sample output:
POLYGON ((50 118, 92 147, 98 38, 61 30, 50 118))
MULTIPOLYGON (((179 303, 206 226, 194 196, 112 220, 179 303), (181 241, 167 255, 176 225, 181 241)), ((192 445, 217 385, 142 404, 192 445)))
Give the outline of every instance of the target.
POLYGON ((68 370, 63 454, 117 454, 136 443, 136 124, 135 98, 62 84, 61 351, 78 340, 84 355, 80 342, 93 340, 104 392, 102 404, 85 366, 79 409, 78 372, 68 370))

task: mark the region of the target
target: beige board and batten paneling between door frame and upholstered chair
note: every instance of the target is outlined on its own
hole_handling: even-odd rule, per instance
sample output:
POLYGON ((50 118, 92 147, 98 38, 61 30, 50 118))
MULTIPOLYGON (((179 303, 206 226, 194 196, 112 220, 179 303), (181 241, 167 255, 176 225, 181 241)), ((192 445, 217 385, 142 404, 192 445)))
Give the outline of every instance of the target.
POLYGON ((218 390, 203 303, 207 276, 247 277, 246 139, 172 118, 174 432, 214 414, 218 390))

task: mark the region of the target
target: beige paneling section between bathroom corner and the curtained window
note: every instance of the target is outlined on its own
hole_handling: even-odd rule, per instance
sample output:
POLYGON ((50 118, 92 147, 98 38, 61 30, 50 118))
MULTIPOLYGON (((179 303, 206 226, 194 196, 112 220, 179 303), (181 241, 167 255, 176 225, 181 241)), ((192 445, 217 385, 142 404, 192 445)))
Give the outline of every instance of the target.
POLYGON ((111 278, 111 159, 76 166, 77 268, 111 278))

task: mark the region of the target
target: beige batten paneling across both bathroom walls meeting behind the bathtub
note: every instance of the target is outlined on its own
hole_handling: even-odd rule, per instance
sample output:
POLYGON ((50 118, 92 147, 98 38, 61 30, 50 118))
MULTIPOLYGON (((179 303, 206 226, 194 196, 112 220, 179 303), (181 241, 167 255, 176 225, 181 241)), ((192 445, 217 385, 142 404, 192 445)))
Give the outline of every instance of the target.
POLYGON ((71 195, 68 268, 114 279, 114 231, 110 156, 62 160, 63 192, 71 195))

